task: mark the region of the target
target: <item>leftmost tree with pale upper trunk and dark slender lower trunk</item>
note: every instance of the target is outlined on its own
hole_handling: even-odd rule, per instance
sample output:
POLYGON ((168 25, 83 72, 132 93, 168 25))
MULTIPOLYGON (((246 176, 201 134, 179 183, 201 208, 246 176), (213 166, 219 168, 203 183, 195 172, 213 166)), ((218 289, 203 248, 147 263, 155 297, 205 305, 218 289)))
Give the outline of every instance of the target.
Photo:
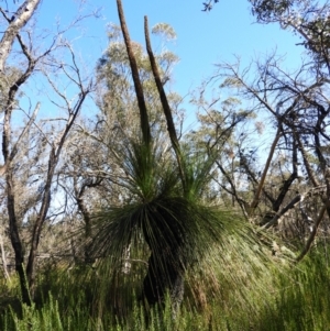
MULTIPOLYGON (((13 184, 13 173, 12 173, 12 162, 18 153, 18 144, 20 139, 16 141, 15 144, 12 144, 11 148, 11 118, 12 112, 15 107, 15 98, 18 95, 19 88, 28 80, 28 78, 33 73, 37 60, 46 55, 41 54, 38 58, 34 58, 31 56, 29 48, 25 45, 21 36, 21 30, 25 24, 30 21, 32 15, 34 14, 40 1, 38 0, 28 0, 22 3, 18 8, 16 4, 13 5, 13 14, 10 15, 8 9, 4 9, 2 5, 0 7, 0 11, 2 14, 2 37, 0 41, 0 75, 1 75, 1 96, 2 96, 2 112, 3 112, 3 131, 2 131, 2 157, 3 157, 3 166, 1 167, 2 175, 6 175, 6 187, 7 187, 7 207, 8 207, 8 214, 9 214, 9 227, 10 227, 10 239, 15 252, 15 268, 20 276, 21 287, 22 287, 22 295, 25 301, 30 301, 29 298, 29 290, 25 284, 25 275, 23 268, 23 261, 24 261, 24 250, 22 246, 22 242, 19 235, 19 227, 15 217, 15 202, 14 202, 14 184, 13 184), (13 47, 14 42, 18 40, 19 47, 23 56, 25 56, 26 65, 22 70, 18 70, 16 77, 13 79, 8 79, 8 71, 11 69, 7 69, 7 60, 11 54, 11 49, 13 47)), ((8 3, 7 3, 8 5, 8 3)), ((9 75, 11 77, 11 75, 9 75)), ((28 126, 31 126, 34 115, 38 110, 38 106, 36 106, 34 114, 32 114, 28 126)), ((24 131, 22 132, 24 133, 24 131)), ((21 135, 21 137, 23 134, 21 135)))

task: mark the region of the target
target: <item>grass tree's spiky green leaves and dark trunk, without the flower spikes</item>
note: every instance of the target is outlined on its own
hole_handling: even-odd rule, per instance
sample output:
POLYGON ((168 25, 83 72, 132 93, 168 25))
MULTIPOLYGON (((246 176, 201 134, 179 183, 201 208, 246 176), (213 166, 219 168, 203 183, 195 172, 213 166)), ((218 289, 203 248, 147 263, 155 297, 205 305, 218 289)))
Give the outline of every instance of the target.
MULTIPOLYGON (((99 263, 102 274, 108 275, 103 279, 108 284, 100 286, 101 293, 108 293, 105 288, 111 284, 120 296, 123 283, 145 277, 138 296, 147 293, 150 304, 154 304, 164 298, 166 290, 172 294, 177 277, 189 271, 205 275, 241 261, 242 273, 267 273, 268 257, 253 229, 239 216, 209 206, 204 199, 211 179, 212 157, 185 157, 184 189, 173 155, 163 154, 156 142, 129 141, 121 153, 117 166, 127 175, 121 181, 125 189, 122 202, 96 217, 96 234, 90 243, 94 256, 105 257, 99 263), (145 269, 122 275, 128 250, 131 260, 148 258, 146 275, 141 274, 145 269), (205 263, 207 260, 209 263, 205 263)), ((235 286, 237 274, 227 276, 229 284, 235 286)), ((122 293, 122 298, 116 298, 121 301, 124 297, 122 293)))

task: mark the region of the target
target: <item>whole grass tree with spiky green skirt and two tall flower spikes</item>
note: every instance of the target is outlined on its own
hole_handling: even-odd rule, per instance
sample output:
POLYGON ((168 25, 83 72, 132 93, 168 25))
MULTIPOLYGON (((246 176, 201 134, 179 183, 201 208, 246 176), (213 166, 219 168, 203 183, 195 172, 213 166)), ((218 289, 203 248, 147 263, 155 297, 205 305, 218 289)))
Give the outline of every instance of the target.
MULTIPOLYGON (((153 306, 164 302, 168 294, 172 302, 178 306, 183 300, 188 272, 200 271, 206 256, 215 257, 208 265, 209 271, 215 267, 215 262, 218 265, 228 264, 231 260, 229 255, 235 256, 233 260, 246 258, 248 264, 257 265, 255 252, 250 252, 253 247, 251 243, 256 243, 256 236, 238 217, 210 206, 205 199, 205 191, 210 187, 215 156, 187 155, 180 147, 145 19, 146 48, 167 122, 172 151, 163 151, 156 134, 151 134, 143 87, 121 1, 118 0, 117 4, 140 110, 141 134, 134 140, 128 136, 124 147, 117 155, 118 167, 125 174, 118 179, 122 187, 121 202, 98 214, 90 249, 95 256, 105 257, 101 264, 110 266, 107 272, 111 273, 111 284, 119 288, 120 280, 124 282, 122 266, 128 257, 128 249, 141 256, 147 246, 148 263, 142 276, 143 282, 141 279, 141 298, 146 305, 153 306), (242 251, 237 254, 240 249, 242 251), (245 254, 246 250, 251 254, 245 254)), ((258 266, 263 267, 262 264, 258 266)))

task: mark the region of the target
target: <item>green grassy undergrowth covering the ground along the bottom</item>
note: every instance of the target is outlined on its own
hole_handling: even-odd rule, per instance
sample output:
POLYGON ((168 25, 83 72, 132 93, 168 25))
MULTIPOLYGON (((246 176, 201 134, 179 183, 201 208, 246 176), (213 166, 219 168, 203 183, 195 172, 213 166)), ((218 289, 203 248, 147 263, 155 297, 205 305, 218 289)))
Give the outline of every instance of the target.
MULTIPOLYGON (((235 287, 227 283, 226 279, 229 277, 224 276, 223 271, 221 275, 220 268, 216 271, 213 278, 199 277, 196 273, 189 275, 187 278, 195 283, 195 293, 187 294, 175 319, 168 295, 163 307, 155 306, 146 315, 143 306, 134 297, 134 291, 130 293, 131 309, 124 319, 116 316, 109 307, 97 312, 96 307, 92 307, 92 299, 87 295, 89 289, 94 288, 92 274, 96 274, 96 271, 90 273, 90 268, 77 268, 64 273, 53 269, 48 278, 38 280, 38 287, 45 291, 42 302, 32 307, 23 305, 22 309, 19 309, 11 300, 12 308, 8 308, 6 312, 1 309, 0 329, 3 331, 327 330, 330 323, 328 313, 330 299, 327 295, 330 290, 330 268, 323 250, 328 249, 329 246, 320 245, 297 266, 274 265, 270 267, 268 274, 258 275, 257 282, 253 282, 255 274, 243 275, 241 262, 238 262, 234 269, 224 268, 227 274, 237 274, 240 286, 235 287), (212 295, 211 290, 215 289, 212 284, 215 282, 220 286, 217 295, 212 295), (201 283, 207 283, 204 293, 201 283)), ((1 288, 1 293, 15 294, 15 290, 8 289, 4 285, 1 288)), ((3 299, 0 305, 3 308, 3 299)))

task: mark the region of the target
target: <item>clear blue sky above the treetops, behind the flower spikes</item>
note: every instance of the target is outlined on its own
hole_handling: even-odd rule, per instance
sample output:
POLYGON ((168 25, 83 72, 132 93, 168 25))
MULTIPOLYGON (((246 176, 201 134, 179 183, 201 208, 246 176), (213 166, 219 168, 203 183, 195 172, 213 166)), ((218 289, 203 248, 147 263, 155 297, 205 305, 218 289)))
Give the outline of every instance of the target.
MULTIPOLYGON (((302 49, 295 46, 299 40, 276 24, 256 24, 248 0, 220 0, 210 12, 201 11, 202 0, 122 2, 132 40, 144 44, 144 15, 148 16, 151 27, 166 22, 176 31, 177 40, 170 44, 170 49, 179 56, 180 62, 174 70, 173 89, 182 96, 210 76, 215 64, 233 62, 234 55, 241 56, 242 63, 248 65, 252 59, 277 48, 278 54, 287 56, 287 67, 296 67, 300 62, 302 49)), ((65 25, 78 14, 79 3, 78 0, 44 0, 37 15, 38 25, 54 30, 56 20, 65 25)), ((82 13, 94 9, 101 9, 100 18, 81 22, 78 29, 67 35, 90 70, 107 48, 107 24, 119 23, 116 0, 85 1, 82 13)), ((188 109, 188 117, 189 121, 194 121, 193 109, 188 109)))

